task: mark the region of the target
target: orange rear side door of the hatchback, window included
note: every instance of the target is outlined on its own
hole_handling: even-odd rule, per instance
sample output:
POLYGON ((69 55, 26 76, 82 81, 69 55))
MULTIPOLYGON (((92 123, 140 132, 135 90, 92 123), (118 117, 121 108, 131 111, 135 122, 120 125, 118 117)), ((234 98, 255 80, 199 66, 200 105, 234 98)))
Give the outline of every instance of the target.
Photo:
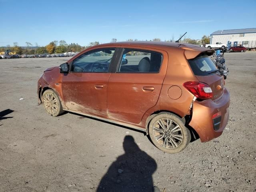
POLYGON ((158 101, 168 54, 152 48, 126 47, 117 63, 108 81, 108 118, 139 124, 158 101))

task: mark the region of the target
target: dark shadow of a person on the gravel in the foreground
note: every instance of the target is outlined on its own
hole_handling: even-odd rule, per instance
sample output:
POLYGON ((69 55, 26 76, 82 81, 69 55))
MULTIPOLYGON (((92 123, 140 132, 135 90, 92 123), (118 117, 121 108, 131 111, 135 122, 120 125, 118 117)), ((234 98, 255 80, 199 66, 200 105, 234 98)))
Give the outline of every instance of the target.
POLYGON ((123 148, 125 153, 110 165, 96 192, 153 192, 156 161, 140 150, 132 136, 125 136, 123 148))

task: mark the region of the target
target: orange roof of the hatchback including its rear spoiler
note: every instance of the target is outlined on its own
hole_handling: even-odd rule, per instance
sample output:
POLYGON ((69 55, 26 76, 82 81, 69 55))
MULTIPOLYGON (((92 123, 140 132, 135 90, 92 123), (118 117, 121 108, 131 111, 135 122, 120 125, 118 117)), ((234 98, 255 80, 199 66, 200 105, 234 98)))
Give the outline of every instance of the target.
MULTIPOLYGON (((180 48, 184 49, 185 56, 187 59, 193 59, 198 56, 200 53, 205 52, 208 56, 214 53, 214 50, 208 49, 205 47, 200 47, 194 44, 188 43, 176 43, 176 42, 163 42, 163 41, 125 41, 125 42, 114 42, 114 43, 106 43, 100 44, 97 46, 107 46, 107 45, 114 45, 114 46, 147 46, 152 48, 164 49, 164 48, 180 48)), ((96 47, 97 47, 96 46, 96 47)))

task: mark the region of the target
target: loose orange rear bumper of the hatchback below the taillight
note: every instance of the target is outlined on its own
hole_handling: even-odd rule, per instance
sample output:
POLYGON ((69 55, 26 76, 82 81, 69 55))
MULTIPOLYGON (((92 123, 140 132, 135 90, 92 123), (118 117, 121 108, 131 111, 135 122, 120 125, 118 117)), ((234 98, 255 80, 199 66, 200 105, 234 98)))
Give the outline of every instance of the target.
POLYGON ((196 130, 201 142, 210 141, 220 136, 228 123, 230 94, 226 88, 223 92, 222 97, 217 101, 208 99, 193 103, 192 119, 189 125, 196 130), (216 113, 221 114, 218 130, 214 130, 212 119, 212 116, 216 113))

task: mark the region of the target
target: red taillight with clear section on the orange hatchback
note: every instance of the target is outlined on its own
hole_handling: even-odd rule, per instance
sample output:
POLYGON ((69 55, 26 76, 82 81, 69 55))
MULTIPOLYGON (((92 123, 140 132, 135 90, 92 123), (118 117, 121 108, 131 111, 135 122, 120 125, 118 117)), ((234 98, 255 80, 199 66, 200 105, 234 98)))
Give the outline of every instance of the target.
POLYGON ((198 81, 188 81, 183 86, 199 99, 211 99, 212 89, 208 84, 198 81))

